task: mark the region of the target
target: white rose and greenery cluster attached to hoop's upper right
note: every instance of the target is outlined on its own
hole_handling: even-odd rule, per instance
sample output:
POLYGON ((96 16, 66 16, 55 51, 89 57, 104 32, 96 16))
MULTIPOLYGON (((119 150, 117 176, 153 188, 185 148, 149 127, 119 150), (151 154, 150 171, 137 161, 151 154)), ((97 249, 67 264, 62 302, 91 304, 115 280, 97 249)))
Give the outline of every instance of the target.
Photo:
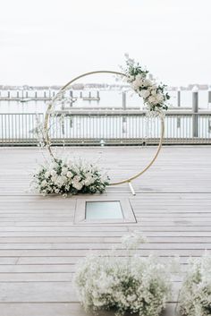
POLYGON ((167 100, 170 98, 165 91, 166 85, 157 84, 148 70, 144 70, 128 55, 125 56, 127 66, 122 71, 125 73, 126 81, 130 83, 131 89, 143 98, 148 115, 164 115, 164 111, 168 109, 167 100))

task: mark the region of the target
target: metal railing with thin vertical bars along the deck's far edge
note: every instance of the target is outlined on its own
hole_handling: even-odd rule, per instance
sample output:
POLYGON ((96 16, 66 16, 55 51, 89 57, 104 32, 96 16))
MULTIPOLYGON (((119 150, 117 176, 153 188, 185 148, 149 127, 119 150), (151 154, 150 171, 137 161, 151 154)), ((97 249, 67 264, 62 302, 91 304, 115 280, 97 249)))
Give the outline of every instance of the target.
MULTIPOLYGON (((0 114, 0 145, 37 145, 36 128, 42 113, 0 114)), ((77 111, 57 113, 50 121, 52 142, 62 145, 156 144, 159 118, 141 111, 77 111)), ((168 111, 166 144, 211 144, 211 112, 168 111)))

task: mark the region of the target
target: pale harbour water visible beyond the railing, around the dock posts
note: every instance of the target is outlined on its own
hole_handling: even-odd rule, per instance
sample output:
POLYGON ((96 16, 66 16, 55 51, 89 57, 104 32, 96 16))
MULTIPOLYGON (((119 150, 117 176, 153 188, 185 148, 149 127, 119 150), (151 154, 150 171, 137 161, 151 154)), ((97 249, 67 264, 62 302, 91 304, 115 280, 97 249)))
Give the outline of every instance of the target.
MULTIPOLYGON (((89 96, 89 91, 93 97, 97 96, 97 90, 83 90, 83 97, 89 96)), ((171 95, 170 103, 173 107, 177 107, 177 92, 170 91, 171 95)), ((2 93, 3 95, 3 93, 2 93)), ((13 91, 13 96, 16 95, 16 91, 13 91)), ((43 91, 38 91, 38 96, 43 95, 43 91)), ((75 90, 73 92, 74 97, 80 96, 80 91, 75 90)), ((34 96, 34 91, 29 91, 29 98, 34 96)), ((121 108, 122 107, 122 91, 118 90, 100 90, 100 101, 85 101, 78 99, 74 104, 74 108, 121 108)), ((127 107, 143 107, 143 101, 139 96, 132 92, 127 92, 127 107)), ((17 101, 0 101, 0 113, 45 113, 46 105, 45 101, 29 101, 29 102, 17 102, 17 101)), ((181 107, 190 107, 192 104, 191 91, 181 91, 181 107)), ((208 93, 207 90, 198 91, 198 105, 201 109, 208 108, 208 93)))

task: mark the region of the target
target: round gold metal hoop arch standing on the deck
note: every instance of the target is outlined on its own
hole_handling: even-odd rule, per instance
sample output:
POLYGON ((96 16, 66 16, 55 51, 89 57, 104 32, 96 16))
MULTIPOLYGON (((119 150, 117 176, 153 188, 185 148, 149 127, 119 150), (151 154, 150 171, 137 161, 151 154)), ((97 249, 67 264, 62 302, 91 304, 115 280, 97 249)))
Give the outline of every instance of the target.
MULTIPOLYGON (((48 133, 48 130, 49 130, 49 116, 50 116, 50 113, 51 113, 51 110, 52 110, 52 107, 53 107, 53 104, 56 100, 56 98, 58 97, 58 95, 60 95, 62 92, 64 92, 65 90, 67 90, 71 84, 74 82, 74 81, 77 81, 79 80, 80 78, 83 78, 85 76, 89 76, 91 74, 97 74, 97 73, 111 73, 111 74, 115 74, 115 75, 120 75, 122 77, 126 77, 126 75, 124 73, 118 73, 118 72, 113 72, 113 71, 97 71, 97 72, 90 72, 90 73, 83 73, 81 74, 80 76, 78 77, 75 77, 74 79, 72 79, 72 81, 69 81, 67 84, 65 84, 63 86, 63 88, 61 88, 57 94, 55 95, 54 98, 52 98, 51 102, 49 103, 48 107, 47 107, 47 110, 46 110, 46 115, 45 115, 45 121, 44 121, 44 130, 45 130, 45 143, 46 143, 46 149, 48 149, 49 151, 49 154, 51 155, 52 158, 55 159, 55 156, 53 154, 53 151, 51 149, 51 141, 50 141, 50 136, 49 136, 49 133, 48 133)), ((165 123, 164 123, 164 118, 163 116, 160 116, 160 123, 161 123, 161 136, 160 136, 160 141, 159 141, 159 144, 158 144, 158 147, 156 149, 156 154, 154 155, 154 157, 151 159, 151 161, 149 162, 148 166, 144 167, 144 169, 142 169, 141 171, 139 171, 138 174, 136 175, 133 175, 131 176, 130 178, 128 179, 124 179, 122 181, 119 181, 119 182, 115 182, 115 183, 112 183, 112 184, 109 184, 109 185, 119 185, 119 184, 129 184, 129 187, 131 189, 131 193, 133 195, 136 195, 136 192, 134 191, 133 187, 132 187, 132 184, 131 184, 131 181, 135 180, 136 178, 138 178, 140 175, 143 175, 149 167, 151 167, 153 165, 153 163, 156 161, 156 158, 160 152, 160 149, 162 147, 162 143, 163 143, 163 140, 164 140, 164 134, 165 134, 165 123)))

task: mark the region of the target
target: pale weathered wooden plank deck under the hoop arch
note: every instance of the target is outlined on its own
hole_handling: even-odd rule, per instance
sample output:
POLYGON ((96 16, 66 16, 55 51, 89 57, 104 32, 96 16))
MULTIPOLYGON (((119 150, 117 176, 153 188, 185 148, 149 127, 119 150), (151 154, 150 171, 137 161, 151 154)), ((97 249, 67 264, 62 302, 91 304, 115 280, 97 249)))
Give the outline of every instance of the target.
MULTIPOLYGON (((117 180, 143 167, 154 150, 78 148, 70 149, 70 155, 102 155, 101 165, 117 180)), ((30 172, 42 160, 38 149, 0 149, 1 316, 86 315, 72 286, 76 262, 89 249, 118 247, 120 237, 133 229, 148 236, 142 255, 179 255, 182 269, 190 255, 210 250, 211 147, 164 147, 155 165, 133 183, 136 196, 126 184, 109 187, 106 198, 130 199, 138 223, 128 225, 76 226, 73 216, 80 196, 63 199, 27 192, 30 172)), ((173 278, 167 316, 174 314, 181 278, 173 278)))

